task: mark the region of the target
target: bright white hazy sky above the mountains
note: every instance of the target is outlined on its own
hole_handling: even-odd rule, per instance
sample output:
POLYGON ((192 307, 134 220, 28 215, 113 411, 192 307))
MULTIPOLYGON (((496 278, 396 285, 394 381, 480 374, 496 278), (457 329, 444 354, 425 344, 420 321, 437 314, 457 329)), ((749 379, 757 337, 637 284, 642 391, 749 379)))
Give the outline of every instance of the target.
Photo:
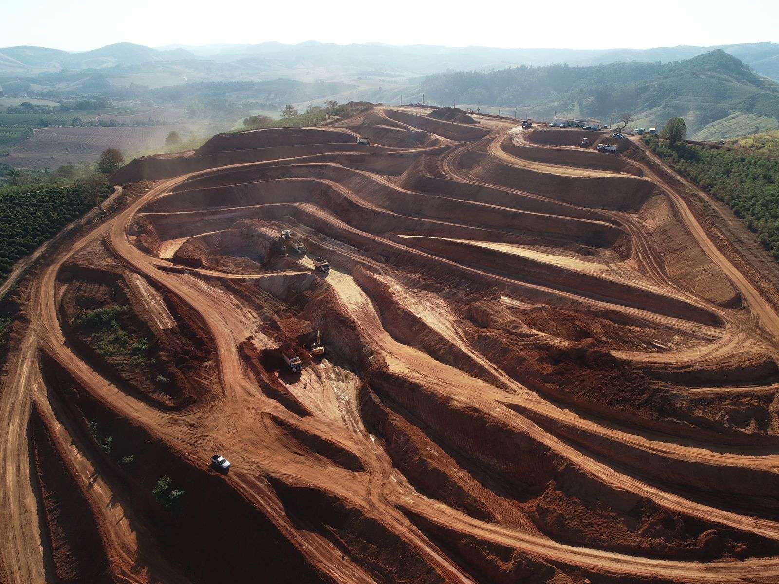
POLYGON ((779 0, 0 0, 0 9, 0 47, 34 44, 71 51, 122 41, 150 46, 321 40, 562 48, 779 41, 779 0))

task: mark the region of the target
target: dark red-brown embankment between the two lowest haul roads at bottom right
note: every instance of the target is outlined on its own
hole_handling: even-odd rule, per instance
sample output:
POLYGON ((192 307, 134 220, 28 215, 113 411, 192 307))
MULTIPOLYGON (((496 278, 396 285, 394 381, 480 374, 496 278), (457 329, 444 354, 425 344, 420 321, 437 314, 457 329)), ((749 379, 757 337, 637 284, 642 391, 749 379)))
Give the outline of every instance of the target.
POLYGON ((424 424, 438 445, 507 484, 538 529, 555 539, 662 558, 743 558, 779 549, 770 540, 679 515, 611 487, 508 422, 421 385, 387 374, 372 378, 371 386, 384 403, 424 424))

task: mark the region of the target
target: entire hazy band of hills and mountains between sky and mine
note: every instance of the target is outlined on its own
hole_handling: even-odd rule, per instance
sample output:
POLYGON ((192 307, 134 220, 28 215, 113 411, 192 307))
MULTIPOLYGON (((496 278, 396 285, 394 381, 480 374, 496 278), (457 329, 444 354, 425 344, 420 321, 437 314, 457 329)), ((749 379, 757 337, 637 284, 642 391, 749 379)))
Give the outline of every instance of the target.
MULTIPOLYGON (((660 127, 673 115, 690 133, 724 138, 779 127, 779 44, 645 50, 501 49, 387 44, 213 44, 152 48, 118 43, 93 51, 0 49, 6 95, 95 95, 187 107, 214 99, 277 111, 293 103, 523 107, 538 119, 622 111, 660 127), (773 79, 773 80, 772 80, 773 79), (172 91, 173 88, 186 90, 172 91)), ((206 103, 207 102, 207 103, 206 103)), ((233 111, 228 107, 227 111, 233 111)), ((505 110, 504 110, 505 111, 505 110)))

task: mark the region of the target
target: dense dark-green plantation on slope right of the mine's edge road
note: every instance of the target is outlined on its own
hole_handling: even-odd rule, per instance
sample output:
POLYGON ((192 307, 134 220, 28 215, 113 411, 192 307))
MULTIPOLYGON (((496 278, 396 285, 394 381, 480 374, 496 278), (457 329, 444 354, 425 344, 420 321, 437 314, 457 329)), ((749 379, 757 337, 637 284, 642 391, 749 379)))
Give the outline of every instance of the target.
POLYGON ((779 160, 747 150, 716 149, 643 137, 675 171, 724 202, 779 261, 779 160))

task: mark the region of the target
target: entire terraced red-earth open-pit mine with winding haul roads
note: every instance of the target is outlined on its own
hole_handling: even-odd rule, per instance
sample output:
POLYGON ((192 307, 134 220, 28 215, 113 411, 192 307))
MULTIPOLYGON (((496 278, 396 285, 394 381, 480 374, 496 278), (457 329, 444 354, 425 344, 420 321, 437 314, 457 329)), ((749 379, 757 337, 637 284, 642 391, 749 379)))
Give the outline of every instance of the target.
POLYGON ((429 113, 115 176, 17 293, 0 582, 779 581, 749 266, 636 144, 429 113))

